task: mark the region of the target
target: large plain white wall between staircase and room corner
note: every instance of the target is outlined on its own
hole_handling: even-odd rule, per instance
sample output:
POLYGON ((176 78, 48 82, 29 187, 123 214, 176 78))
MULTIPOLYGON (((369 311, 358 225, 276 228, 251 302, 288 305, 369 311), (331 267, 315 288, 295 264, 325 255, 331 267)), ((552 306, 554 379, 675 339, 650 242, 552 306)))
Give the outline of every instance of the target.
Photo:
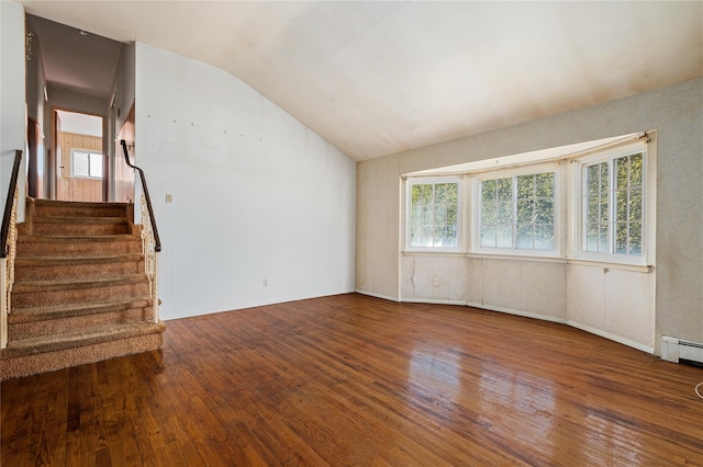
POLYGON ((354 160, 237 78, 143 44, 135 95, 164 319, 354 291, 354 160))

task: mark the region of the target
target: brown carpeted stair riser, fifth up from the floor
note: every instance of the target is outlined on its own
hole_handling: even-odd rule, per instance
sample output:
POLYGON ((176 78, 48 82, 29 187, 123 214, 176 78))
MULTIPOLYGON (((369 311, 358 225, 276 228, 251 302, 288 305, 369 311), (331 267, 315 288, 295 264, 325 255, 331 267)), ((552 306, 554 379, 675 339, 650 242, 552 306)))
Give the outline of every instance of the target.
POLYGON ((142 242, 105 241, 105 242, 23 242, 18 241, 18 257, 104 257, 105 254, 141 253, 142 242))

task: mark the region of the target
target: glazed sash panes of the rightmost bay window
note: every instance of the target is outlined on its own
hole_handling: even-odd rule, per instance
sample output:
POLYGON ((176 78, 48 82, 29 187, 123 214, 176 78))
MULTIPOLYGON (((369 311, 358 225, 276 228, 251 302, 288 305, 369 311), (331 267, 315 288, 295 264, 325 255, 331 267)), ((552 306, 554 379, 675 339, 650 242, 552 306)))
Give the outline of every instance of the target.
POLYGON ((645 152, 583 164, 582 251, 643 257, 645 152))

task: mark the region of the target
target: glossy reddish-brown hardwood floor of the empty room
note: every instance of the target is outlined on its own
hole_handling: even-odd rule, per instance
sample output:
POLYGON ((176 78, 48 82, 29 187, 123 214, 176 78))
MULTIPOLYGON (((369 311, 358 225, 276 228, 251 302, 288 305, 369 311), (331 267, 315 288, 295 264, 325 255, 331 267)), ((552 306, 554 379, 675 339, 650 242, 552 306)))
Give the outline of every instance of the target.
POLYGON ((167 326, 2 383, 2 466, 703 466, 703 369, 566 326, 355 294, 167 326))

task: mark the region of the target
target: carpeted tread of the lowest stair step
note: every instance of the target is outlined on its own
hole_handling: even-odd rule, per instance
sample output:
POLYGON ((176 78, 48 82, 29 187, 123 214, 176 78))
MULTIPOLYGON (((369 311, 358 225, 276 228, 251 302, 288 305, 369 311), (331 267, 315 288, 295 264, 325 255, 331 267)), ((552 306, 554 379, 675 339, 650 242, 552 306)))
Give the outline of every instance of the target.
POLYGON ((0 360, 157 333, 163 332, 165 328, 161 321, 158 323, 140 321, 125 324, 97 326, 78 332, 21 339, 8 342, 8 346, 0 352, 0 360))

